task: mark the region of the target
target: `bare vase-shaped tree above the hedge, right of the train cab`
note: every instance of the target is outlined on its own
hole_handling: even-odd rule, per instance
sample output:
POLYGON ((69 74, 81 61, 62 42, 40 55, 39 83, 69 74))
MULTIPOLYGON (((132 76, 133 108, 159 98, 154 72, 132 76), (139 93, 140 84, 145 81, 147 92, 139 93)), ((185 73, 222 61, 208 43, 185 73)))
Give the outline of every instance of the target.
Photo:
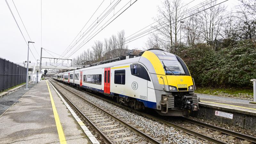
MULTIPOLYGON (((215 4, 216 1, 212 1, 212 3, 205 8, 211 7, 215 4)), ((220 28, 223 24, 225 10, 225 6, 217 5, 199 14, 203 37, 208 45, 213 45, 214 41, 216 41, 220 36, 220 28)))

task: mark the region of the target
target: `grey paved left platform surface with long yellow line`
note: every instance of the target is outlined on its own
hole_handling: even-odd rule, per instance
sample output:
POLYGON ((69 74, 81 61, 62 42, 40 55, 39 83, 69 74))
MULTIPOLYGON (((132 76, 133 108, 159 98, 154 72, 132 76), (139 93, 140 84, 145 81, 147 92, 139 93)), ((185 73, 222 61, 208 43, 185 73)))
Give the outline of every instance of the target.
POLYGON ((49 82, 29 88, 0 116, 0 143, 91 143, 49 82))

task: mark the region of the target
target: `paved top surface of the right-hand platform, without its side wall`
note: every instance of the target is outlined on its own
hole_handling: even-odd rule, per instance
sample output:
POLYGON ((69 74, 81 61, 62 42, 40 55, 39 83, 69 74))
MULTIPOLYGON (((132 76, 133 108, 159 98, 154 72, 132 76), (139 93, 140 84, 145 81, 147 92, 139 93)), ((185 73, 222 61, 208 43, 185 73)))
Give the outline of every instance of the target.
POLYGON ((241 111, 247 111, 256 113, 256 104, 250 104, 251 100, 237 99, 237 98, 228 98, 220 97, 214 95, 206 94, 196 94, 200 98, 200 103, 214 105, 218 107, 225 107, 231 109, 237 109, 241 111))

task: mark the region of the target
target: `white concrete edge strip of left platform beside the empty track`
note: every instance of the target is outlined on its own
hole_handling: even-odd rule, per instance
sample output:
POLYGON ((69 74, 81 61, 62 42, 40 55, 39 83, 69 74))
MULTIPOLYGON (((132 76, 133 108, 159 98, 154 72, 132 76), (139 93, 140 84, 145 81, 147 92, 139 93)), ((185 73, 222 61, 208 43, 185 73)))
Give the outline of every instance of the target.
MULTIPOLYGON (((52 85, 52 83, 50 83, 52 85)), ((68 105, 68 103, 63 99, 63 97, 60 95, 60 93, 55 89, 55 87, 52 85, 55 92, 59 95, 60 99, 63 101, 63 103, 68 108, 69 112, 72 114, 72 116, 76 119, 76 122, 80 125, 82 130, 84 131, 85 135, 89 138, 89 140, 93 144, 100 144, 100 142, 93 136, 93 134, 90 132, 90 130, 85 126, 85 124, 81 121, 81 119, 76 115, 76 113, 73 111, 73 109, 68 105)))

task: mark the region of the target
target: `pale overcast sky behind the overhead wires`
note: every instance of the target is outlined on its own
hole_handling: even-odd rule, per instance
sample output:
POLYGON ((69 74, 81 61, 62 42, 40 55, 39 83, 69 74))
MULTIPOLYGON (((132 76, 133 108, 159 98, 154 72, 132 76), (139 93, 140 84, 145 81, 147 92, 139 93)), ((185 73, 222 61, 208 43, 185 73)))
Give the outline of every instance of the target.
MULTIPOLYGON (((42 47, 52 52, 61 54, 72 42, 78 32, 83 28, 85 23, 90 19, 93 12, 98 8, 103 0, 43 0, 42 1, 42 47)), ((98 11, 91 19, 91 23, 97 19, 114 0, 104 0, 98 11)), ((115 0, 114 2, 116 2, 115 0)), ((135 0, 132 0, 134 2, 135 0)), ((192 0, 184 0, 184 4, 189 3, 192 0)), ((223 0, 218 0, 221 2, 223 0)), ((20 29, 25 36, 26 41, 29 40, 28 35, 21 23, 19 15, 13 5, 16 5, 21 19, 27 28, 28 34, 31 40, 35 42, 34 46, 40 55, 41 48, 41 1, 40 0, 7 0, 10 8, 20 26, 20 29)), ((115 12, 119 10, 129 0, 122 0, 115 12)), ((201 0, 195 0, 188 5, 192 7, 201 0)), ((224 3, 228 9, 233 9, 237 4, 237 0, 229 0, 224 3)), ((91 39, 70 59, 77 56, 80 52, 91 48, 95 40, 103 41, 104 38, 110 37, 112 34, 116 34, 118 31, 124 29, 125 35, 130 36, 134 32, 154 22, 153 18, 157 15, 157 6, 161 5, 161 0, 138 0, 123 14, 121 14, 110 25, 104 28, 98 35, 91 39)), ((114 15, 111 12, 110 15, 114 15)), ((109 15, 109 16, 110 16, 109 15)), ((111 15, 111 16, 112 16, 111 15)), ((10 60, 12 62, 22 62, 27 60, 28 47, 24 41, 19 28, 17 27, 12 14, 4 0, 0 1, 0 57, 10 60)), ((89 26, 90 22, 86 25, 89 26)), ((97 29, 97 28, 96 28, 97 29)), ((79 35, 80 36, 80 35, 79 35)), ((129 43, 129 49, 145 47, 147 36, 142 37, 129 43)), ((35 48, 30 44, 30 49, 33 52, 36 59, 39 60, 40 56, 37 54, 35 48)), ((59 57, 56 54, 51 53, 54 57, 59 57)), ((52 57, 50 54, 43 50, 43 57, 52 57)), ((29 60, 35 62, 35 59, 29 52, 29 60)), ((43 61, 49 61, 44 59, 43 61)))

